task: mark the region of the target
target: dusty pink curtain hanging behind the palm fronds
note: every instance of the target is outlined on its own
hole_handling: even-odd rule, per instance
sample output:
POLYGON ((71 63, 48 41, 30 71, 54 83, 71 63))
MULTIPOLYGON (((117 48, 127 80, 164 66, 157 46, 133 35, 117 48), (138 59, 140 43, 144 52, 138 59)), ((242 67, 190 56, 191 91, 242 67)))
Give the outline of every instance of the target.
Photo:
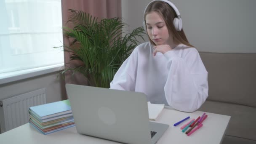
MULTIPOLYGON (((63 27, 72 28, 72 25, 67 24, 67 18, 69 15, 68 10, 78 10, 90 13, 92 16, 101 18, 113 18, 122 17, 121 13, 121 0, 61 0, 62 5, 62 25, 63 27)), ((69 40, 64 37, 63 43, 69 45, 69 40)), ((68 63, 70 53, 64 52, 64 62, 68 63)), ((72 61, 69 67, 79 65, 79 61, 72 61)), ((86 78, 80 73, 71 75, 71 73, 65 74, 66 83, 87 85, 86 78)))

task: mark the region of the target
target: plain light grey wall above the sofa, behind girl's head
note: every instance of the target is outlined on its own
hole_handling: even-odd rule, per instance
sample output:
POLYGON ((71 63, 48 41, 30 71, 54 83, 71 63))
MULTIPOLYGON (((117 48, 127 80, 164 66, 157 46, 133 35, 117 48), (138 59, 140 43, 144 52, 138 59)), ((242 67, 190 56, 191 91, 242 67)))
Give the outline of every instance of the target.
MULTIPOLYGON (((152 0, 122 0, 122 16, 134 29, 152 0)), ((256 0, 171 0, 181 13, 184 32, 199 51, 256 53, 256 0)))

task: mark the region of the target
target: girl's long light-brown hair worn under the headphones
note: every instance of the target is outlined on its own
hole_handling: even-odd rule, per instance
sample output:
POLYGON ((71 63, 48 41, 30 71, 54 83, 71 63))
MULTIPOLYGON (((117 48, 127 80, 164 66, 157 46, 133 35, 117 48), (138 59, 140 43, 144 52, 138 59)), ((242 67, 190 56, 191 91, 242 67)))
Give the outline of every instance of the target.
MULTIPOLYGON (((144 19, 146 18, 147 14, 151 13, 152 11, 159 13, 163 17, 169 33, 171 33, 173 35, 174 42, 182 43, 189 47, 194 47, 193 45, 191 45, 188 42, 187 37, 183 31, 183 28, 181 29, 181 31, 176 31, 174 24, 173 24, 173 19, 175 17, 177 17, 177 14, 168 3, 165 3, 163 1, 158 1, 158 0, 150 3, 147 6, 147 9, 145 10, 144 19)), ((147 28, 146 19, 145 19, 145 26, 147 28)), ((149 35, 148 35, 148 37, 149 37, 149 35)), ((150 37, 149 37, 149 41, 151 44, 155 45, 155 43, 150 39, 150 37)))

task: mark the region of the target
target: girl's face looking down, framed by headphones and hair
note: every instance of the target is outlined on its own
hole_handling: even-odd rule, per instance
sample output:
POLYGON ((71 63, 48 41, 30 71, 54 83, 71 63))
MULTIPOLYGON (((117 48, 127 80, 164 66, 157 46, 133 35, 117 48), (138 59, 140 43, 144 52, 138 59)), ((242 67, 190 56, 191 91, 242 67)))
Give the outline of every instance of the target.
POLYGON ((146 15, 147 33, 156 45, 169 44, 171 34, 168 32, 165 21, 159 13, 153 11, 146 15))

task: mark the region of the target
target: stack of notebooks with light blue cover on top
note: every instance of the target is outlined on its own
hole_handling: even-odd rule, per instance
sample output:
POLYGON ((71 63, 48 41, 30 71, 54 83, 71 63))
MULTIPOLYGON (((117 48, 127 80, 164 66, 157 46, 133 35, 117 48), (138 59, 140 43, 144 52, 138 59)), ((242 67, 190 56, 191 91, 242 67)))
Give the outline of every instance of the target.
POLYGON ((30 107, 29 123, 43 134, 74 126, 69 100, 30 107))

